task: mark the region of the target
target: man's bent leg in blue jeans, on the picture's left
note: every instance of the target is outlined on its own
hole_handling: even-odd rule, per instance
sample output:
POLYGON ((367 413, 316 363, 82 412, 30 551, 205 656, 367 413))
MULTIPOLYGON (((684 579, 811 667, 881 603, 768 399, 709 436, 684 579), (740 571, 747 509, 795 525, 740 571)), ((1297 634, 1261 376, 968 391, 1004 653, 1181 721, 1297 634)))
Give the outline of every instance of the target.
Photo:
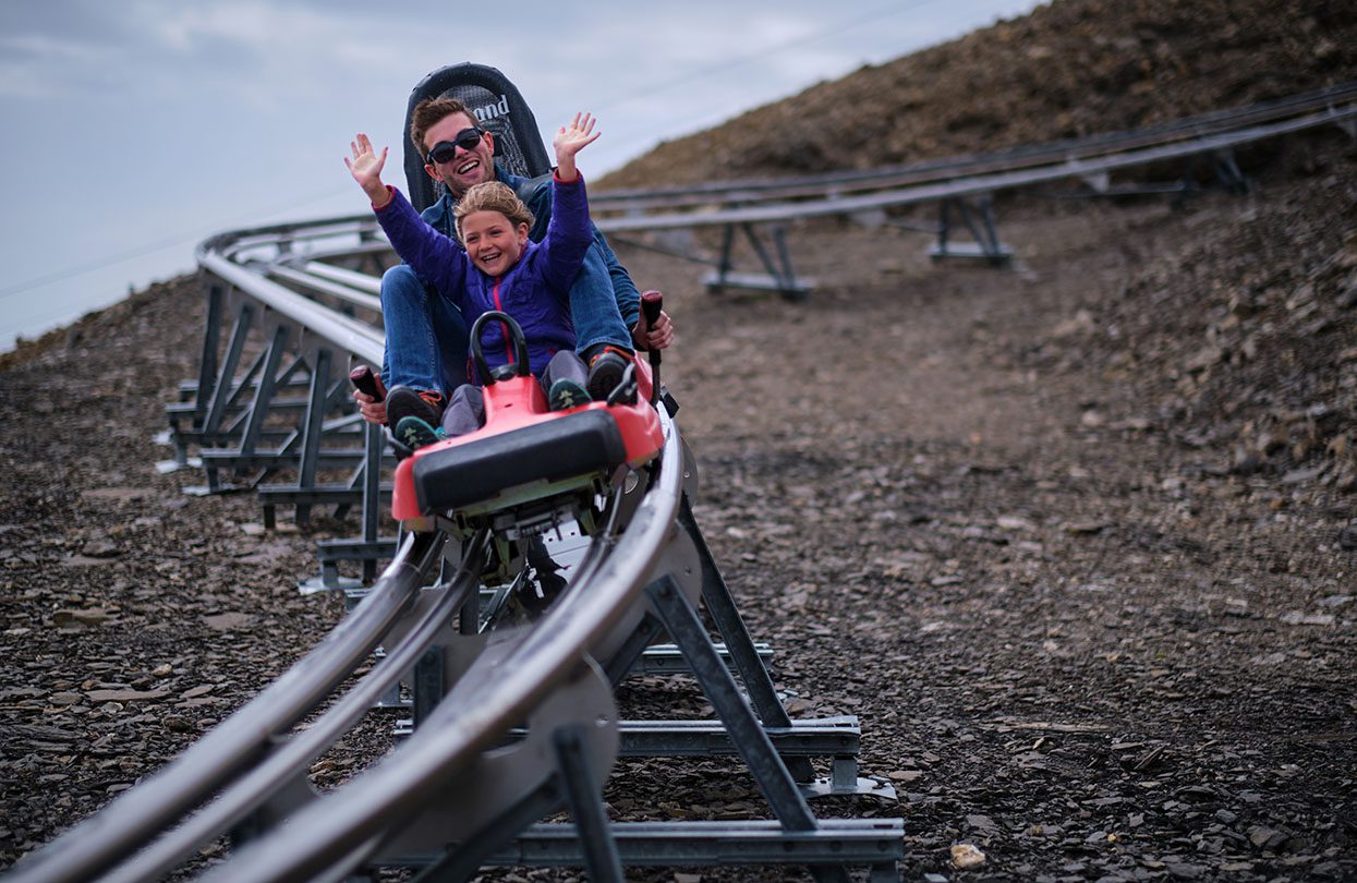
POLYGON ((467 321, 446 297, 425 286, 407 264, 381 274, 387 351, 381 382, 451 393, 467 382, 467 321))

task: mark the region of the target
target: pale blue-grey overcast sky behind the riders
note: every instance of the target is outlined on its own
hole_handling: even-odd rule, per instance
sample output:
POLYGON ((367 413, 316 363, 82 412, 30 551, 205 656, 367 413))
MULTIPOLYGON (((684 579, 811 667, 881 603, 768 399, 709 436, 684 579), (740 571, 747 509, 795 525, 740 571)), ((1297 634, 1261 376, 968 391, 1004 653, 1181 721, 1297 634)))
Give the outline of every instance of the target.
POLYGON ((392 145, 437 68, 502 71, 555 127, 600 118, 590 176, 1037 0, 3 0, 0 350, 193 269, 206 236, 366 209, 349 138, 392 145))

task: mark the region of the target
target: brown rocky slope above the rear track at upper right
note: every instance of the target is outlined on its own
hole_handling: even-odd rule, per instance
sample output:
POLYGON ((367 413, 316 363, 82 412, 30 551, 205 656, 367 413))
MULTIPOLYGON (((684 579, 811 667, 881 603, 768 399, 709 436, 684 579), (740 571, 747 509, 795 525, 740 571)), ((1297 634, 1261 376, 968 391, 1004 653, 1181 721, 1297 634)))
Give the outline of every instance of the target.
POLYGON ((1153 125, 1354 77, 1349 3, 1056 0, 665 142, 601 183, 874 168, 1153 125))

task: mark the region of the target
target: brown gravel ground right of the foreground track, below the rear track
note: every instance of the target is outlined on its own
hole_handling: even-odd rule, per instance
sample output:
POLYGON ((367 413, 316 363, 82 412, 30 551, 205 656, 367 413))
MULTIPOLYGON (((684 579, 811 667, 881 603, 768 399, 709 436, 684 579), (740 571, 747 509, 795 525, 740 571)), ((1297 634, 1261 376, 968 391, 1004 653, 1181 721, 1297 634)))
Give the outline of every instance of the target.
POLYGON ((684 312, 699 518, 906 879, 1357 876, 1352 160, 1008 206, 1011 274, 805 229, 829 290, 684 312))

